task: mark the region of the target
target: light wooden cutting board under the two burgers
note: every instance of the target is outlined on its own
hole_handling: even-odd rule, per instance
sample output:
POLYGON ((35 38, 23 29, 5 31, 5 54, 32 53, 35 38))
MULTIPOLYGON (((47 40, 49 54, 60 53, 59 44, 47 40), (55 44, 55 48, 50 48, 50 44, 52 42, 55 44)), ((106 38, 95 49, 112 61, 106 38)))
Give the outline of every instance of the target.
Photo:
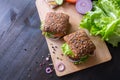
MULTIPOLYGON (((70 28, 70 33, 80 29, 79 24, 82 19, 82 15, 76 12, 74 5, 65 3, 63 6, 53 10, 47 5, 45 0, 37 0, 36 6, 41 21, 44 21, 47 12, 50 11, 63 12, 70 16, 70 24, 72 26, 70 28)), ((102 41, 99 37, 90 36, 90 38, 96 46, 95 55, 91 56, 87 62, 80 65, 74 65, 69 61, 69 59, 66 56, 62 55, 61 45, 64 43, 62 39, 51 40, 46 38, 57 76, 64 76, 111 60, 112 57, 105 42, 102 41), (55 48, 54 50, 52 47, 55 46, 57 46, 57 48, 55 48), (56 64, 58 64, 59 62, 62 62, 65 65, 65 70, 63 72, 59 72, 56 69, 56 64)))

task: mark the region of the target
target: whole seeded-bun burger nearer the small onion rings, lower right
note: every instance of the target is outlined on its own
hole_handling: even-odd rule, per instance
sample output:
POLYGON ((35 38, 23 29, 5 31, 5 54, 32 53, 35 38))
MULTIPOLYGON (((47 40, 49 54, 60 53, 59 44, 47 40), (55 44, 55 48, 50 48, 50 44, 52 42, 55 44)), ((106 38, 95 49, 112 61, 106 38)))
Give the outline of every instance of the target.
POLYGON ((75 64, 86 62, 89 55, 96 49, 84 30, 66 35, 64 40, 66 43, 62 45, 62 51, 75 64))

